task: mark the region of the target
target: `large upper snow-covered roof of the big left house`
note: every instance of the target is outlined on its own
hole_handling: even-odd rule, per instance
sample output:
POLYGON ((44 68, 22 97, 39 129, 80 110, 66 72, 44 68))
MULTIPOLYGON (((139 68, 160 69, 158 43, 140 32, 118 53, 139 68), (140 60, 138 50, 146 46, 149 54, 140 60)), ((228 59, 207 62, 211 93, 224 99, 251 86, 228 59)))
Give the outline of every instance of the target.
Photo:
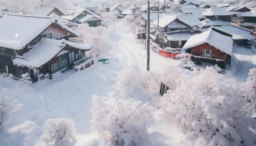
POLYGON ((65 26, 53 16, 21 15, 8 13, 0 19, 0 46, 20 50, 41 34, 51 24, 56 23, 70 33, 77 32, 65 26))

